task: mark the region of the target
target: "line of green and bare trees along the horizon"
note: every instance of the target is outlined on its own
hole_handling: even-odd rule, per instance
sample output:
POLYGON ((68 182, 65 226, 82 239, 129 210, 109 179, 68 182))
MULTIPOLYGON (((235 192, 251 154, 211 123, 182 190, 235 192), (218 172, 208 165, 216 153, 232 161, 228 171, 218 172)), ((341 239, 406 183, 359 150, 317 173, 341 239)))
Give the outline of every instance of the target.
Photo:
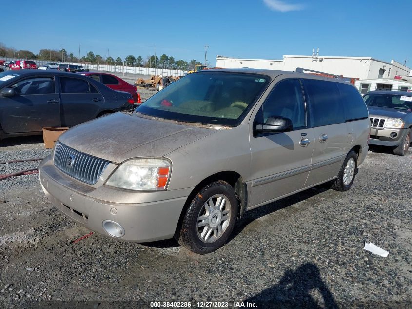
POLYGON ((151 55, 143 59, 142 56, 135 57, 134 55, 129 55, 124 59, 121 57, 114 59, 112 56, 104 58, 99 54, 95 55, 92 51, 89 51, 85 56, 78 58, 73 55, 73 53, 68 54, 64 48, 60 50, 40 49, 39 54, 35 54, 29 50, 16 50, 2 43, 0 43, 0 57, 39 59, 50 62, 88 62, 94 64, 127 65, 172 70, 193 70, 196 64, 201 64, 195 59, 192 59, 190 62, 183 59, 175 60, 173 56, 166 54, 162 54, 160 58, 151 55))

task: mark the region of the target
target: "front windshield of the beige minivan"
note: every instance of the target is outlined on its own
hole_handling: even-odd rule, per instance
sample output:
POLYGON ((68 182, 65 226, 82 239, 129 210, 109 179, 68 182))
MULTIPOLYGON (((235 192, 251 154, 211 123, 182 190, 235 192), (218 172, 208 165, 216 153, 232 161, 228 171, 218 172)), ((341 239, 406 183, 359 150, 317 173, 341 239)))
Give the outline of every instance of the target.
POLYGON ((263 75, 198 72, 172 83, 137 108, 146 115, 235 126, 269 84, 263 75))

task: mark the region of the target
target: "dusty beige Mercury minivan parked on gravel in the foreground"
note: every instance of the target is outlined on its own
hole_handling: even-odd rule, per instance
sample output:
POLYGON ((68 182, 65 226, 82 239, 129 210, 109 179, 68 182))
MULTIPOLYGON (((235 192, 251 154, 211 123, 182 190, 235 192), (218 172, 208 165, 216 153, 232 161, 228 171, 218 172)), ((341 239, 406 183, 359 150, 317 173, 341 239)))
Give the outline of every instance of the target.
POLYGON ((207 70, 134 112, 68 130, 39 177, 50 201, 85 227, 134 242, 175 236, 204 254, 247 210, 329 181, 348 190, 369 130, 366 105, 346 82, 207 70))

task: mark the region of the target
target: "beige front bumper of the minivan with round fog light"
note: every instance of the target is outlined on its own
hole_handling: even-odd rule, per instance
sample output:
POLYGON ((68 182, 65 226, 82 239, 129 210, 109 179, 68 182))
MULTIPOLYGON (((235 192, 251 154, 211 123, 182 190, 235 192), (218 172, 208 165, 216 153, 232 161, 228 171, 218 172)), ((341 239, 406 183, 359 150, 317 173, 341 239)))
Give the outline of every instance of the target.
POLYGON ((147 192, 130 192, 105 185, 93 188, 57 169, 51 156, 40 163, 39 178, 47 198, 62 213, 95 232, 133 242, 172 238, 187 196, 192 190, 187 188, 150 192, 148 198, 147 192), (111 201, 96 198, 95 190, 106 191, 102 196, 111 196, 111 201), (134 200, 133 203, 124 203, 127 195, 132 195, 126 200, 134 200), (120 203, 113 201, 116 196, 120 203), (144 202, 137 202, 139 197, 142 197, 141 200, 144 202), (104 221, 116 222, 124 229, 123 235, 114 237, 109 234, 103 228, 104 221))

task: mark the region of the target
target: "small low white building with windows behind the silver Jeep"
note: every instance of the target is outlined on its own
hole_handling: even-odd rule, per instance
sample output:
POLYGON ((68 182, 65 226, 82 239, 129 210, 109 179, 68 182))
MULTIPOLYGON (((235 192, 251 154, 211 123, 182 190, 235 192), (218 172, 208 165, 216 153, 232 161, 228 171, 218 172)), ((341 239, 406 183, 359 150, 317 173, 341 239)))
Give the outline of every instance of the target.
POLYGON ((356 81, 355 87, 361 94, 373 90, 411 91, 412 83, 392 78, 380 78, 356 81))

